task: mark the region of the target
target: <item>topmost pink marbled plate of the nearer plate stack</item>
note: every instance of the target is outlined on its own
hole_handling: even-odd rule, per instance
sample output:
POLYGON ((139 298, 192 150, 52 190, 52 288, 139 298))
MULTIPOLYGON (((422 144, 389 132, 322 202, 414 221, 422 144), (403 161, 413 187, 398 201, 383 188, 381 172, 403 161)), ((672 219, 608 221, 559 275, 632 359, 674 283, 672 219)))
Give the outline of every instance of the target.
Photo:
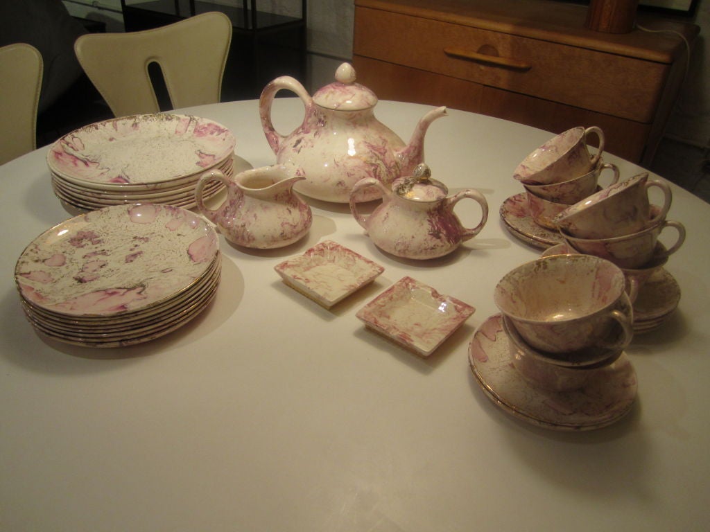
POLYGON ((65 316, 146 309, 190 289, 219 253, 204 219, 158 204, 111 206, 35 238, 15 267, 21 297, 65 316))

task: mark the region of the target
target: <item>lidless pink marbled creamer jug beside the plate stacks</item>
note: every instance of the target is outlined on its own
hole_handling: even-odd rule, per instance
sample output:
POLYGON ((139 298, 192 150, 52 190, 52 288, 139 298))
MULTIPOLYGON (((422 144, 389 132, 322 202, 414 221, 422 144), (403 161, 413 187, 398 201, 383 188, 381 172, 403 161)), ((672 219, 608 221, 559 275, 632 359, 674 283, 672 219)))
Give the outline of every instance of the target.
POLYGON ((281 248, 300 240, 312 223, 310 207, 293 192, 293 184, 302 179, 283 166, 253 168, 231 179, 211 170, 197 182, 195 199, 202 214, 229 242, 246 248, 281 248), (226 199, 212 210, 202 194, 214 181, 226 186, 226 199))

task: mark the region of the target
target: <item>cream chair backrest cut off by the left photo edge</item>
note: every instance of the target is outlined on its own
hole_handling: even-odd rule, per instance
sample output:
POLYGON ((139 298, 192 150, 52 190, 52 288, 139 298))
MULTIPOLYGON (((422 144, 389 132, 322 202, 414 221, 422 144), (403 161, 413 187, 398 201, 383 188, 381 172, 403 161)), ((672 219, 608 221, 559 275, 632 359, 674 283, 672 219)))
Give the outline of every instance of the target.
POLYGON ((0 48, 0 165, 36 146, 42 55, 17 43, 0 48))

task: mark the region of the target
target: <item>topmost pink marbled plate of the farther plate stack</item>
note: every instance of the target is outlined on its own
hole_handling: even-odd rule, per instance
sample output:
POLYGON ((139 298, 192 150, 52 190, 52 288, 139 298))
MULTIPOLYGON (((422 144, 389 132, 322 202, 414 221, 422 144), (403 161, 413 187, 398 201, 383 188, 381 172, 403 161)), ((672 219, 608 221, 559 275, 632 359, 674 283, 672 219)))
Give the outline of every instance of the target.
POLYGON ((207 118, 126 116, 67 133, 50 148, 47 164, 87 188, 170 186, 174 179, 219 165, 235 144, 229 129, 207 118))

